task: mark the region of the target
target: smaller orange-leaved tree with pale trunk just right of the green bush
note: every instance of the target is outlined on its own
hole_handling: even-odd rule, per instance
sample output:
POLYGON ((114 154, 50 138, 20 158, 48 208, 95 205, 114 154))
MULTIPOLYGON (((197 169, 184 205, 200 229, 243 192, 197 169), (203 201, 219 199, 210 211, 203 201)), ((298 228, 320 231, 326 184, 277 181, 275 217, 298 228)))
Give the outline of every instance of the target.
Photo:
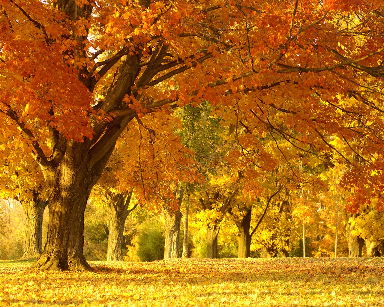
POLYGON ((164 130, 172 131, 181 126, 177 124, 177 117, 173 114, 158 113, 153 114, 149 120, 136 121, 137 127, 131 127, 128 133, 121 136, 117 145, 119 151, 113 154, 115 162, 109 164, 116 168, 116 185, 120 188, 129 185, 136 187, 136 194, 140 195, 143 204, 163 211, 166 236, 164 259, 177 258, 182 216, 180 205, 185 185, 180 178, 185 182, 194 183, 200 176, 194 169, 196 163, 191 158, 192 151, 182 144, 179 136, 161 130, 155 132, 149 128, 161 126, 164 130), (166 127, 168 129, 165 129, 166 127), (126 145, 134 142, 134 128, 140 135, 136 151, 126 145), (127 161, 127 157, 130 161, 127 161))

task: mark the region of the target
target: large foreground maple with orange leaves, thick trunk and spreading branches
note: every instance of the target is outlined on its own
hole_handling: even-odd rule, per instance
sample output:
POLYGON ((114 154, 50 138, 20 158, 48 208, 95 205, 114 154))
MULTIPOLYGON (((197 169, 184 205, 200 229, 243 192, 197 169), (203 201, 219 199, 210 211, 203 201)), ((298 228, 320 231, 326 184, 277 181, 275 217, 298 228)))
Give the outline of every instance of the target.
POLYGON ((358 184, 374 170, 380 190, 380 4, 1 0, 0 142, 29 150, 48 193, 48 241, 33 266, 91 269, 89 193, 129 122, 159 108, 231 107, 257 163, 259 131, 324 159, 337 134, 367 160, 358 184))

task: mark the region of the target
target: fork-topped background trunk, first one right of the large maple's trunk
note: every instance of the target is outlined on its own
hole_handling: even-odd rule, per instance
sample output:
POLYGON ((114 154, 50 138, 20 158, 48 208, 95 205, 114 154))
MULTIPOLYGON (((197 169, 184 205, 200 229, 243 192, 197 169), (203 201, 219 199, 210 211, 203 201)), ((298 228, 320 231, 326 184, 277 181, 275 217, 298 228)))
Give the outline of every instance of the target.
POLYGON ((122 256, 124 225, 129 213, 136 208, 134 206, 134 208, 128 210, 131 197, 132 191, 127 195, 113 195, 109 201, 107 261, 124 261, 122 256))

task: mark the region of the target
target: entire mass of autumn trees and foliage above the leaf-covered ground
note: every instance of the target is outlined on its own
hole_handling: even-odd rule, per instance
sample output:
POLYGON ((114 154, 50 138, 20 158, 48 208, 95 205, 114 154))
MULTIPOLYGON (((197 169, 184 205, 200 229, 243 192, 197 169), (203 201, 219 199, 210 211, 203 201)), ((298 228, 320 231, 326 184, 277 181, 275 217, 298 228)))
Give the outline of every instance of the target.
POLYGON ((0 8, 2 257, 382 254, 381 1, 0 8))

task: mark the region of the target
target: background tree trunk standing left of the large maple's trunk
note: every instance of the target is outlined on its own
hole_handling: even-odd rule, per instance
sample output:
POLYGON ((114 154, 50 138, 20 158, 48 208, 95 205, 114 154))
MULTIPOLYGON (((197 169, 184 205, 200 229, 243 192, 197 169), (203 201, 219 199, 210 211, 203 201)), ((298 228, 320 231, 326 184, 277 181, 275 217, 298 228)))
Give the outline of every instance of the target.
POLYGON ((31 200, 21 201, 25 215, 25 242, 22 259, 37 258, 41 255, 43 213, 47 202, 38 199, 38 195, 38 193, 33 193, 31 200))

